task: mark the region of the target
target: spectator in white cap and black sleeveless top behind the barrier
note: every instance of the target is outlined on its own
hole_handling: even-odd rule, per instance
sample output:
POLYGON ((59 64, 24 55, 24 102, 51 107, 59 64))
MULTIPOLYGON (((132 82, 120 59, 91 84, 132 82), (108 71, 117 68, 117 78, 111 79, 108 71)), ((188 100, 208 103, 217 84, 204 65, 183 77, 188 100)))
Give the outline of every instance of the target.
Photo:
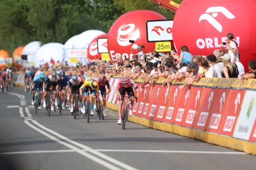
POLYGON ((229 54, 225 54, 221 56, 223 60, 223 74, 222 78, 237 78, 238 77, 238 71, 237 67, 235 65, 232 65, 230 60, 231 56, 229 54))

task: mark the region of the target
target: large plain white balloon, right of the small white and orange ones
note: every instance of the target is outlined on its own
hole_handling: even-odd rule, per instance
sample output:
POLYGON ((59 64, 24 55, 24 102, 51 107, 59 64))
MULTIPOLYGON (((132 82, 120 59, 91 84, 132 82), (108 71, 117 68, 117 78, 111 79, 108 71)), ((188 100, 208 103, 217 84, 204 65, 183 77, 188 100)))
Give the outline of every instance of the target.
POLYGON ((50 65, 55 65, 57 61, 62 63, 64 60, 64 45, 60 43, 48 43, 40 47, 35 57, 35 68, 46 62, 50 65))

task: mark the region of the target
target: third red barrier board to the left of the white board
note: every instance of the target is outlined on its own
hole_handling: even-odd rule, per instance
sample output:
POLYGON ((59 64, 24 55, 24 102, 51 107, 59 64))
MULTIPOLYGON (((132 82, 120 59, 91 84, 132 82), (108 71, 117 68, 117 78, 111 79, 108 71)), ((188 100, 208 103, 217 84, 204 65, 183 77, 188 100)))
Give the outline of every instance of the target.
POLYGON ((200 107, 196 115, 196 120, 194 122, 194 129, 205 131, 215 97, 215 90, 216 89, 210 88, 204 89, 200 107))

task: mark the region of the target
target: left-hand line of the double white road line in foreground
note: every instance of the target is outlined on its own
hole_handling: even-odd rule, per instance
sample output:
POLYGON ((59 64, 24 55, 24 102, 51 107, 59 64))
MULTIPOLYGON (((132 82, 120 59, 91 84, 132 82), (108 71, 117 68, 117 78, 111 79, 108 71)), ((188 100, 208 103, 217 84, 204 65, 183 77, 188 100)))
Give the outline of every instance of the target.
MULTIPOLYGON (((50 138, 50 139, 52 139, 52 140, 54 140, 54 141, 60 143, 61 145, 64 145, 64 146, 66 146, 66 147, 68 147, 68 148, 70 148, 70 149, 72 149, 72 150, 78 152, 79 154, 81 154, 81 155, 83 155, 83 156, 85 156, 85 157, 87 157, 87 158, 93 160, 94 162, 97 162, 98 164, 101 164, 102 166, 105 166, 105 167, 108 168, 108 169, 117 169, 117 170, 120 169, 120 170, 121 170, 121 168, 119 168, 119 167, 117 167, 117 166, 114 166, 114 165, 112 165, 112 164, 109 164, 108 162, 106 162, 106 161, 104 161, 104 160, 102 160, 102 159, 99 159, 98 157, 95 157, 95 156, 93 156, 93 155, 91 155, 91 154, 88 154, 88 153, 84 152, 83 150, 78 149, 77 147, 75 147, 75 146, 73 146, 73 145, 70 145, 70 144, 67 143, 67 142, 61 141, 61 140, 59 140, 59 139, 53 137, 52 135, 50 135, 50 134, 48 134, 48 133, 42 131, 41 129, 36 128, 36 126, 30 124, 28 121, 24 121, 24 122, 25 122, 28 126, 30 126, 31 128, 33 128, 33 129, 35 129, 36 131, 38 131, 38 132, 44 134, 46 137, 48 137, 48 138, 50 138)), ((33 121, 33 123, 34 123, 34 122, 36 122, 36 121, 33 121)), ((36 123, 37 123, 37 122, 36 122, 36 123)), ((39 123, 38 123, 38 124, 39 124, 39 123)), ((39 125, 40 125, 40 124, 39 124, 39 125)), ((42 126, 43 126, 43 125, 42 125, 42 126)), ((43 127, 44 127, 44 126, 43 126, 43 127)), ((46 128, 46 129, 47 129, 47 128, 46 128)), ((55 132, 55 133, 56 133, 56 132, 55 132)), ((57 134, 58 134, 58 133, 57 133, 57 134)), ((61 135, 60 135, 60 136, 61 136, 61 135)), ((63 136, 62 136, 62 137, 63 137, 63 136)), ((135 168, 134 168, 134 169, 135 169, 135 168)))

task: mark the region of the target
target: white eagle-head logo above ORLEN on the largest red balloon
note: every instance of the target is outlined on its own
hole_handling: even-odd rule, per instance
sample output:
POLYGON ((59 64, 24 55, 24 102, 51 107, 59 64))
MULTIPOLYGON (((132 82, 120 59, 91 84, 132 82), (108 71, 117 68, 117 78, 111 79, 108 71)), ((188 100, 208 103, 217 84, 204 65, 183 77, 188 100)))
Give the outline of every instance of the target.
POLYGON ((205 11, 205 14, 202 14, 199 18, 199 22, 202 20, 208 21, 215 29, 217 29, 219 32, 222 32, 222 25, 215 20, 214 18, 218 16, 218 12, 221 12, 223 15, 225 15, 228 19, 234 19, 235 16, 231 14, 225 7, 223 6, 214 6, 214 7, 209 7, 205 11), (212 15, 207 14, 207 13, 212 13, 212 15))

